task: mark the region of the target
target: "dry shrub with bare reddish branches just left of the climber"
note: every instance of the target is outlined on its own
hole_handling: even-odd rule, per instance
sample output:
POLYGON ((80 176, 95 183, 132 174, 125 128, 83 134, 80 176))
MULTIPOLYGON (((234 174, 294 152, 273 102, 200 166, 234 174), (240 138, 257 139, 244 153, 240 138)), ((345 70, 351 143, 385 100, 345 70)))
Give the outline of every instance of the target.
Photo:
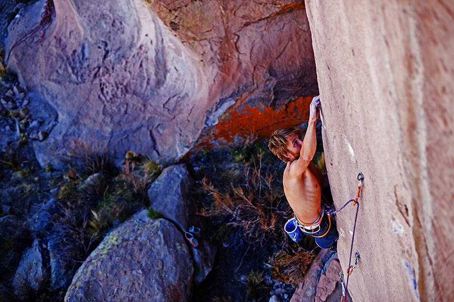
POLYGON ((262 154, 257 161, 245 164, 243 181, 221 191, 208 182, 202 184, 212 197, 212 204, 199 213, 203 216, 225 216, 228 226, 241 228, 245 240, 254 248, 265 243, 281 247, 287 241, 283 232, 289 205, 285 202, 282 185, 273 174, 262 170, 262 154))

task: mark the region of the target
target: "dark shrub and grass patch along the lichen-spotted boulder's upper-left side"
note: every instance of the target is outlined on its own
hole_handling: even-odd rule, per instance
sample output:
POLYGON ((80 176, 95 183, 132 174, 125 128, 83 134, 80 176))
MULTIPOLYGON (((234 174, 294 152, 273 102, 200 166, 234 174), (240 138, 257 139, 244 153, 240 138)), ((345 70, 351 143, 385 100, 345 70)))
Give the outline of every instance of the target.
POLYGON ((53 217, 68 265, 85 260, 111 228, 146 207, 147 188, 157 177, 157 172, 152 176, 145 172, 138 157, 126 159, 118 172, 107 156, 86 155, 83 148, 79 150, 77 158, 85 165, 70 168, 63 176, 57 196, 59 211, 53 217))

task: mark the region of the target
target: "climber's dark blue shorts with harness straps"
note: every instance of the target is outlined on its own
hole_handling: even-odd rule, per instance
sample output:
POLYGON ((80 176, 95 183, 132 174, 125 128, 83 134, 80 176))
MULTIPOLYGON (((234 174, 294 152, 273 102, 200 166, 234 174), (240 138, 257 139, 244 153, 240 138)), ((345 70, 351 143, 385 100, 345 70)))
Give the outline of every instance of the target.
POLYGON ((315 243, 322 249, 331 247, 339 239, 336 220, 334 216, 328 216, 326 212, 323 214, 322 220, 316 229, 310 230, 309 228, 303 228, 301 225, 299 225, 299 228, 303 234, 315 237, 315 243))

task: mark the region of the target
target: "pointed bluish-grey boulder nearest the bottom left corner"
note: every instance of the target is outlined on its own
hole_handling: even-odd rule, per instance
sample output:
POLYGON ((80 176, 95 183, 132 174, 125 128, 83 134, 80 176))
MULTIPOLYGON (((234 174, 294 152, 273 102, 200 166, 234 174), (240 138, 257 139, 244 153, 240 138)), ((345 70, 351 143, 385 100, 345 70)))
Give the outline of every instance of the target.
POLYGON ((41 245, 38 239, 33 241, 30 248, 22 253, 21 262, 14 274, 14 292, 19 297, 24 297, 30 290, 38 291, 47 281, 41 245))

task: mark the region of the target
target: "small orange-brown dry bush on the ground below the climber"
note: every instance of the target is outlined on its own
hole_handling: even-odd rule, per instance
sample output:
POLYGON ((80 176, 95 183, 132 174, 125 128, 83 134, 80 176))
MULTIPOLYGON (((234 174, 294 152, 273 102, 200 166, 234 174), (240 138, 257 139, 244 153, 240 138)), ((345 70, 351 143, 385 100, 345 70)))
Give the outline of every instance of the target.
POLYGON ((304 249, 278 252, 272 260, 272 274, 278 281, 298 284, 312 265, 315 254, 304 249))

